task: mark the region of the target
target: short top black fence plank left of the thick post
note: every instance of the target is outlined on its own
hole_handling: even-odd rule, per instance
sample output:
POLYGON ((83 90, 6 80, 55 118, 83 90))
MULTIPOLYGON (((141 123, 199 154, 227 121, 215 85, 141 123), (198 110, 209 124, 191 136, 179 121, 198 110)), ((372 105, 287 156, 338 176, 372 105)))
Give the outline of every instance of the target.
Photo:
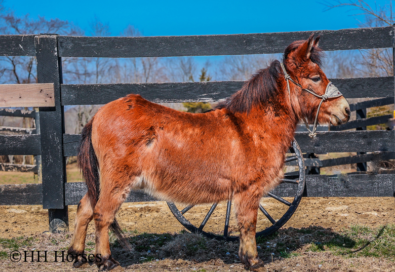
POLYGON ((35 35, 0 35, 1 56, 36 56, 35 35))

